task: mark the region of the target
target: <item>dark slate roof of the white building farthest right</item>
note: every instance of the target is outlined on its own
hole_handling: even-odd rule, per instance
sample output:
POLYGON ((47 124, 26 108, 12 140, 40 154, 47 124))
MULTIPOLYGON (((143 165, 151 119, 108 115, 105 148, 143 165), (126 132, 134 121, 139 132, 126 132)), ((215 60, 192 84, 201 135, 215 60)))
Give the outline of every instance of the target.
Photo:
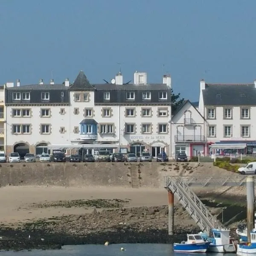
POLYGON ((252 106, 256 105, 254 84, 205 84, 205 106, 252 106))

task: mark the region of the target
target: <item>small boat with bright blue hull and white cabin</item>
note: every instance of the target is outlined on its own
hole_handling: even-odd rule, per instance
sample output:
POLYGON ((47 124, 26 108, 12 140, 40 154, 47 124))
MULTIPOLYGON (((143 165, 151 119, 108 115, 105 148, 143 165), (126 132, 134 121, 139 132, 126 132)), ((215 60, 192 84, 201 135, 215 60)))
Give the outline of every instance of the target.
POLYGON ((204 241, 200 234, 187 234, 187 241, 173 244, 173 250, 183 253, 206 253, 210 243, 204 241))

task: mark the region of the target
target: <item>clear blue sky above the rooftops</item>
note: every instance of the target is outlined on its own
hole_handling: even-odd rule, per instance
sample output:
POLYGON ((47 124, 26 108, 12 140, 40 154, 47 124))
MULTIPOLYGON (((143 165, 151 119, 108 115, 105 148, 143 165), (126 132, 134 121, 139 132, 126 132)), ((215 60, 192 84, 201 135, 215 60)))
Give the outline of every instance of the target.
POLYGON ((148 82, 172 76, 198 100, 199 81, 256 79, 256 0, 0 0, 0 84, 111 80, 122 63, 148 82), (164 67, 163 67, 164 64, 164 67))

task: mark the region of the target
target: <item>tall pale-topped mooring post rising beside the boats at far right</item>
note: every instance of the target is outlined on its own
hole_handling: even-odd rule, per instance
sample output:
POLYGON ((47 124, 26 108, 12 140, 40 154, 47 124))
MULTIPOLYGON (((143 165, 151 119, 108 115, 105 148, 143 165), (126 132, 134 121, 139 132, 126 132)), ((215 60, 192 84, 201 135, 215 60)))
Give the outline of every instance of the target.
POLYGON ((251 242, 250 232, 254 227, 254 177, 246 178, 246 198, 247 198, 247 241, 251 242))

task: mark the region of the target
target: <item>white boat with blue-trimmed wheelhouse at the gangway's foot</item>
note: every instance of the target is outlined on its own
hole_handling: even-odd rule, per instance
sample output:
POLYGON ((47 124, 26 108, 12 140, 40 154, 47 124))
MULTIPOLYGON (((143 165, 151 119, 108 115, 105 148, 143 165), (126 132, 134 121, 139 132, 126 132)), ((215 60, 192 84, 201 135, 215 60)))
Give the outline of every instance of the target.
POLYGON ((235 253, 236 243, 230 240, 230 230, 228 229, 212 229, 212 236, 207 236, 206 233, 200 233, 202 238, 210 241, 207 252, 214 253, 235 253))

